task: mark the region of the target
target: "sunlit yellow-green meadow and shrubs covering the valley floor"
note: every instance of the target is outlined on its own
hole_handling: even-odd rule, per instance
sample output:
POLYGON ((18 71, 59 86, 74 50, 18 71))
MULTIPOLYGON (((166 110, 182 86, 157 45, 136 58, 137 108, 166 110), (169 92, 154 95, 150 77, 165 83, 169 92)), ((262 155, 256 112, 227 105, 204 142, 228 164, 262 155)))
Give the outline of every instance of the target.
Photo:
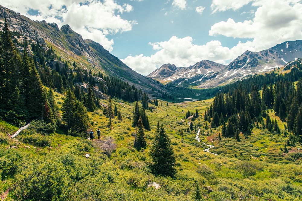
MULTIPOLYGON (((63 102, 62 96, 56 96, 57 102, 63 102)), ((108 100, 101 102, 108 105, 108 100)), ((211 128, 203 119, 212 102, 149 104, 151 131, 145 130, 147 146, 139 151, 133 146, 137 130, 131 127, 135 102, 112 99, 122 121, 115 116, 111 128, 101 109, 88 112, 93 141, 87 140, 88 133, 72 137, 60 130, 51 132, 51 127, 42 124, 11 139, 8 133, 18 128, 0 121, 1 196, 4 200, 301 200, 302 147, 296 143, 287 147, 287 153, 281 151, 289 135, 284 122, 269 110, 281 134, 261 130, 259 125, 247 138, 240 133, 240 142, 234 137, 219 140, 221 126, 211 128), (199 117, 187 132, 186 113, 196 110, 199 117), (154 175, 149 168, 158 121, 171 139, 174 177, 154 175), (200 140, 214 145, 210 152, 217 155, 204 152, 208 147, 195 139, 198 129, 200 140), (184 131, 183 142, 180 131, 184 131), (43 139, 47 143, 41 143, 43 139), (161 187, 148 187, 153 182, 161 187)))

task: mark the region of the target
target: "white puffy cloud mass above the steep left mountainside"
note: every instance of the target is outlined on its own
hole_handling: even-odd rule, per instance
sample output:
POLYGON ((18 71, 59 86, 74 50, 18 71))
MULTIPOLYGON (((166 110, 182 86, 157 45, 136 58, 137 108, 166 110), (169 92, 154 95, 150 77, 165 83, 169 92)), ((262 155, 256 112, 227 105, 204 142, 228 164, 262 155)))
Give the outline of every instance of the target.
POLYGON ((136 24, 136 21, 124 20, 120 16, 124 12, 133 11, 133 7, 126 3, 120 5, 114 0, 4 0, 1 4, 32 20, 55 22, 59 27, 69 24, 84 39, 92 39, 109 51, 113 49, 114 42, 107 36, 130 31, 136 24), (30 15, 31 10, 38 14, 30 15))

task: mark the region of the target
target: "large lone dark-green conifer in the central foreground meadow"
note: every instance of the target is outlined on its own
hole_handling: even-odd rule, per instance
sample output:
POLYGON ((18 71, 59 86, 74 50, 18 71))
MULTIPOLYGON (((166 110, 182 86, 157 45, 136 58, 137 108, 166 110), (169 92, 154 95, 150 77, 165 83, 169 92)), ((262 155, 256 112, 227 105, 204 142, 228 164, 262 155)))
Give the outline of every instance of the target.
POLYGON ((176 159, 171 146, 171 140, 165 133, 163 125, 159 126, 159 121, 157 122, 156 134, 149 153, 153 162, 152 170, 155 174, 162 176, 175 175, 176 159))

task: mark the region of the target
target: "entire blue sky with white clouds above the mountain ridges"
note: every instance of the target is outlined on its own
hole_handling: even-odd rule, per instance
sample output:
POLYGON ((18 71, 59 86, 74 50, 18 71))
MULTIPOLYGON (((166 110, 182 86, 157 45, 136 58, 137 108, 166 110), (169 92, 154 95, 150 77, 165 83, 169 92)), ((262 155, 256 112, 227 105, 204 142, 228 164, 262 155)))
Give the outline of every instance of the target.
POLYGON ((69 24, 130 68, 228 64, 246 50, 302 39, 300 0, 0 0, 32 20, 69 24))

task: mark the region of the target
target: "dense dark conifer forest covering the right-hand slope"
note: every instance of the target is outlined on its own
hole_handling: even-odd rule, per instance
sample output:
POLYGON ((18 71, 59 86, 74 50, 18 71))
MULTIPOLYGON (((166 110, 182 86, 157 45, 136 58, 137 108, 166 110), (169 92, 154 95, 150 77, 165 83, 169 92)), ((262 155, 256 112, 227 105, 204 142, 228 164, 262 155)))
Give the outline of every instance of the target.
POLYGON ((301 64, 298 64, 286 74, 273 71, 225 86, 205 111, 204 119, 211 122, 211 127, 222 125, 224 137, 239 138, 239 132, 247 137, 254 126, 281 133, 277 121, 268 115, 273 109, 286 122, 288 131, 294 133, 292 141, 302 142, 301 77, 301 64), (260 83, 263 85, 259 88, 260 83))

